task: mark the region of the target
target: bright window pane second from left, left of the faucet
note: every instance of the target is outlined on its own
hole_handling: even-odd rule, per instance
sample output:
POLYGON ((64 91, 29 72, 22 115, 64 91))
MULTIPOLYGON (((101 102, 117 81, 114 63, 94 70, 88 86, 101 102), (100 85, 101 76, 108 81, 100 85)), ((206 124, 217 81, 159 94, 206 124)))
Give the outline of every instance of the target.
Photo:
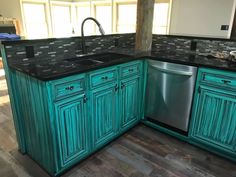
POLYGON ((56 37, 72 35, 72 24, 69 6, 52 6, 53 32, 56 37))

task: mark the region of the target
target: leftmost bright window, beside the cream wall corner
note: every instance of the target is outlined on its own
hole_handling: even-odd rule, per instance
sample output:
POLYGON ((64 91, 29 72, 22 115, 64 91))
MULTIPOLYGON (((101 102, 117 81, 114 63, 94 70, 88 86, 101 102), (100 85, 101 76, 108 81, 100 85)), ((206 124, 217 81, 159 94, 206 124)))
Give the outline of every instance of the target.
POLYGON ((23 3, 23 16, 27 38, 47 38, 48 24, 46 20, 46 5, 44 3, 23 3))

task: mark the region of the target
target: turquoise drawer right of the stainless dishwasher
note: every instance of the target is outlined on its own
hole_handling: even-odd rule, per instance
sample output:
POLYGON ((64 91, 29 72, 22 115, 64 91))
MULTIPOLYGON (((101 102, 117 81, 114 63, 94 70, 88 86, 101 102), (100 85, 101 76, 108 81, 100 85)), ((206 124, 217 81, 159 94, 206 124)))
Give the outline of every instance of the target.
POLYGON ((236 87, 236 74, 224 71, 202 72, 201 82, 223 87, 236 87))

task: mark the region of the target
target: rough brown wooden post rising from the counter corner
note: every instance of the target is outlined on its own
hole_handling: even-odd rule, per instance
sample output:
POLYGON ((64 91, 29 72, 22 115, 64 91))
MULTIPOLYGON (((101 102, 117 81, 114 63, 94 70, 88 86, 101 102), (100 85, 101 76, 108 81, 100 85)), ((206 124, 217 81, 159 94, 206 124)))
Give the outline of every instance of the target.
POLYGON ((138 0, 135 44, 137 52, 151 51, 154 3, 155 0, 138 0))

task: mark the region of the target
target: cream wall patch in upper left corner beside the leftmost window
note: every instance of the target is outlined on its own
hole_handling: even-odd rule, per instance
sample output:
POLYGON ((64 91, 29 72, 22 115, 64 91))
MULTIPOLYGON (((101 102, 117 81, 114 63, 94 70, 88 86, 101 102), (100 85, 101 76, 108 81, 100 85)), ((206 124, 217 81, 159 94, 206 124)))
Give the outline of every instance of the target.
POLYGON ((3 17, 18 19, 21 24, 22 34, 24 34, 22 27, 20 0, 0 0, 0 14, 3 17))

